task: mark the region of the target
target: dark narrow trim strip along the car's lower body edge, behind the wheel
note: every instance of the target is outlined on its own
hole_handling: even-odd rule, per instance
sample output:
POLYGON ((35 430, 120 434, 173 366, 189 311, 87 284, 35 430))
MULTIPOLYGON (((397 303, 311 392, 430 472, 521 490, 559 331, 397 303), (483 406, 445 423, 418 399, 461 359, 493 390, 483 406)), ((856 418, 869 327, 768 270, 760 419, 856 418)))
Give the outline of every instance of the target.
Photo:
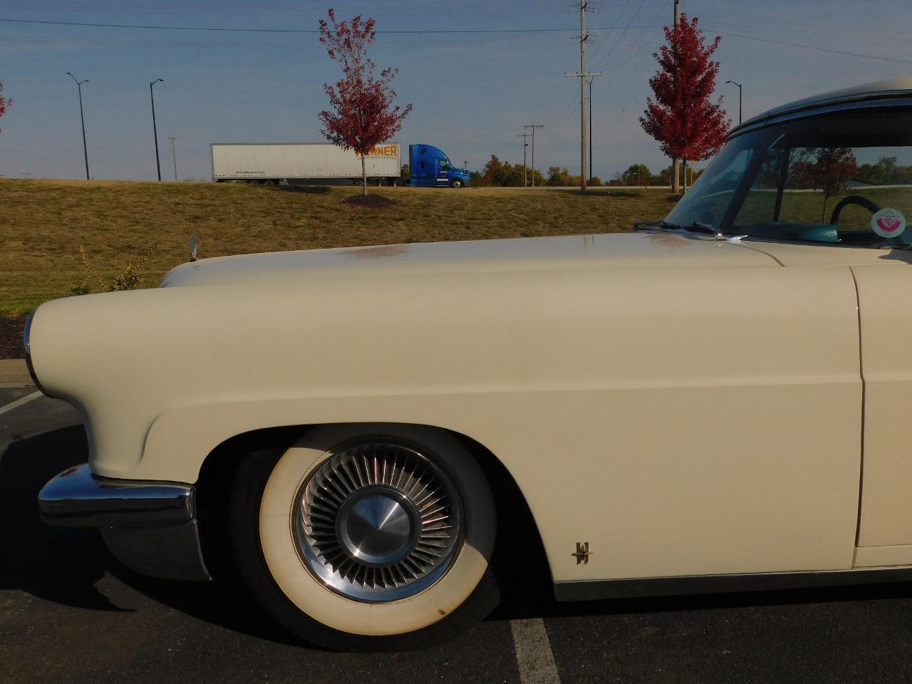
POLYGON ((801 573, 750 573, 746 575, 683 575, 645 579, 556 582, 558 601, 591 601, 641 596, 683 596, 727 592, 800 589, 813 586, 873 585, 912 581, 912 567, 865 570, 832 570, 801 573))

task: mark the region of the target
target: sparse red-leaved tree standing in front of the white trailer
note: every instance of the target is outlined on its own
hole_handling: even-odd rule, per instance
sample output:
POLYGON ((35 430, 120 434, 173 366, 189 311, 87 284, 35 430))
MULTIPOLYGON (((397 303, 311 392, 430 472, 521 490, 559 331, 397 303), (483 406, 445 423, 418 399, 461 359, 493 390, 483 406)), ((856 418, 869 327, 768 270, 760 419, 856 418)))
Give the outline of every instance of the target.
POLYGON ((323 84, 333 111, 323 110, 320 132, 334 145, 355 150, 361 157, 361 182, 368 194, 368 171, 365 155, 378 143, 389 140, 402 127, 402 120, 411 111, 393 106, 396 91, 390 88, 398 69, 387 67, 374 75, 376 65, 368 57, 368 46, 377 37, 374 20, 362 20, 358 15, 350 22, 337 21, 330 7, 329 21, 320 19, 320 43, 326 46, 329 57, 342 67, 343 77, 333 87, 323 84))

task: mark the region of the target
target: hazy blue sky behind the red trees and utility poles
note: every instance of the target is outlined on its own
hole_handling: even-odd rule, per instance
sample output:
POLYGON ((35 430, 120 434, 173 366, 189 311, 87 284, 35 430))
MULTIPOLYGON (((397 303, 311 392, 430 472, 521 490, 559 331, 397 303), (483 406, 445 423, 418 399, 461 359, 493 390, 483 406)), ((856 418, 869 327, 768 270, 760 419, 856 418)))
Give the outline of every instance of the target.
MULTIPOLYGON (((85 178, 77 86, 67 71, 89 81, 82 95, 93 178, 156 178, 149 91, 156 78, 163 79, 155 109, 164 180, 174 177, 169 136, 177 139, 181 180, 211 179, 211 142, 324 141, 317 119, 328 104, 323 84, 340 78, 316 35, 329 2, 0 0, 0 82, 14 100, 0 119, 0 176, 85 178)), ((579 2, 332 6, 340 18, 377 21, 370 55, 378 68, 399 69, 397 102, 414 105, 395 140, 436 145, 452 161, 481 169, 492 154, 522 162, 516 136, 539 124, 535 168, 579 172, 579 81, 564 76, 580 66, 579 2)), ((908 0, 830 0, 825 13, 822 6, 682 0, 710 40, 722 38, 717 95, 735 123, 738 88, 726 80, 743 85, 747 119, 814 93, 912 74, 908 0)), ((590 0, 589 7, 588 68, 604 72, 592 87, 594 172, 604 180, 639 162, 658 171, 668 161, 637 118, 673 1, 590 0)))

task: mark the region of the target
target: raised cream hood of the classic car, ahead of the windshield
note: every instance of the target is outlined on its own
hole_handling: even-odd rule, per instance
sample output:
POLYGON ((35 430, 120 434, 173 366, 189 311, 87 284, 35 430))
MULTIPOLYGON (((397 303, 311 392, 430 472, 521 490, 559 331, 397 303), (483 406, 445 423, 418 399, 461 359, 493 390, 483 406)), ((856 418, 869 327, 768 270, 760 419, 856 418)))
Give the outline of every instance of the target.
POLYGON ((742 244, 670 233, 609 233, 239 254, 182 264, 165 275, 161 285, 323 276, 776 265, 768 254, 742 244))

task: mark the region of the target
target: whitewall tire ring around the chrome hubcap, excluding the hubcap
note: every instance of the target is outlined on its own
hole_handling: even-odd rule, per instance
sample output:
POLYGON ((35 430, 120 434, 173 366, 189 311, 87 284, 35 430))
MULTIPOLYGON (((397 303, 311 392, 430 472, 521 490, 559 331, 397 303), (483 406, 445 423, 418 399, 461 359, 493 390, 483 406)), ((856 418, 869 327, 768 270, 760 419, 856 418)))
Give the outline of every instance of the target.
POLYGON ((254 454, 242 461, 235 478, 232 526, 238 563, 254 595, 285 627, 327 648, 426 646, 471 627, 499 596, 490 569, 496 536, 490 487, 469 451, 441 430, 326 426, 307 432, 281 455, 254 454), (366 437, 414 445, 445 469, 461 492, 459 548, 445 574, 404 598, 366 602, 327 586, 308 566, 295 534, 302 483, 340 445, 366 437))

